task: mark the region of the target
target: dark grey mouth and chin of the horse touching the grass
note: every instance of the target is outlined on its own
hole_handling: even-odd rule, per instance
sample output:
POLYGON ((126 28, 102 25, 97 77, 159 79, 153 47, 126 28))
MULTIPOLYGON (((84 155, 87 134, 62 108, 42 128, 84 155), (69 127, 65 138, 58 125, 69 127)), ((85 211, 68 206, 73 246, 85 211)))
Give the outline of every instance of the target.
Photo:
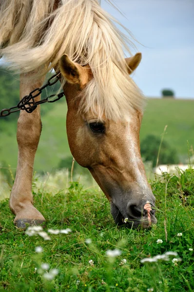
POLYGON ((155 212, 149 212, 146 214, 146 216, 143 216, 140 219, 130 219, 127 216, 123 216, 120 210, 117 208, 117 206, 111 202, 111 214, 113 216, 113 219, 117 225, 123 225, 125 224, 126 227, 129 228, 143 228, 147 229, 152 226, 152 224, 157 223, 157 219, 155 218, 155 212))

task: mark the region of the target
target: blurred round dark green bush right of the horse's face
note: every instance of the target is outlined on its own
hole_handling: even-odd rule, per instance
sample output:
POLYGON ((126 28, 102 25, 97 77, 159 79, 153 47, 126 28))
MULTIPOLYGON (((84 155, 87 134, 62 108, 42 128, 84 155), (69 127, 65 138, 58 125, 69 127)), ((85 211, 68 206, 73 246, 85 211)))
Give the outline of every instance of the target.
MULTIPOLYGON (((157 153, 160 146, 160 137, 148 135, 141 141, 141 156, 145 161, 152 161, 156 165, 157 153)), ((179 162, 175 148, 172 148, 166 141, 162 142, 158 164, 177 164, 179 162)))

